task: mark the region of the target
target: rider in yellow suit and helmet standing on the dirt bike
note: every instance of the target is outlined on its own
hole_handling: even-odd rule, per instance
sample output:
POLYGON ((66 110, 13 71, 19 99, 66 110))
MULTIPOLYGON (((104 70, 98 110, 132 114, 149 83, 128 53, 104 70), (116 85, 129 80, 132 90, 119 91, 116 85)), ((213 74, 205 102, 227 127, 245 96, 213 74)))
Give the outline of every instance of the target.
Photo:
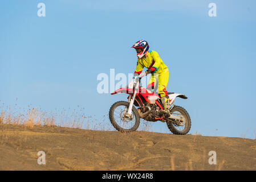
POLYGON ((133 77, 138 76, 144 67, 148 68, 146 71, 147 75, 149 73, 152 75, 147 88, 154 89, 155 86, 158 86, 159 96, 161 98, 162 105, 164 106, 164 111, 166 114, 169 114, 169 96, 166 91, 166 86, 169 80, 168 67, 164 64, 156 51, 149 50, 148 43, 145 40, 139 40, 133 44, 132 48, 136 49, 138 57, 133 77), (155 82, 157 81, 158 85, 155 85, 155 82))

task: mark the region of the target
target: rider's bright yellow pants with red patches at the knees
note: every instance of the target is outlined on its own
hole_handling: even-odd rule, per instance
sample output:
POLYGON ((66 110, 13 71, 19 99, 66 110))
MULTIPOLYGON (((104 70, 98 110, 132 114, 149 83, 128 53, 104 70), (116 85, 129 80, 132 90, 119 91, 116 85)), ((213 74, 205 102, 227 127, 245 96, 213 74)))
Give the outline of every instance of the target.
POLYGON ((169 69, 165 68, 161 73, 154 73, 151 75, 151 78, 148 82, 148 89, 154 89, 157 82, 158 82, 158 92, 160 94, 160 97, 168 96, 166 91, 166 86, 169 81, 169 69), (158 79, 157 79, 158 77, 158 79))

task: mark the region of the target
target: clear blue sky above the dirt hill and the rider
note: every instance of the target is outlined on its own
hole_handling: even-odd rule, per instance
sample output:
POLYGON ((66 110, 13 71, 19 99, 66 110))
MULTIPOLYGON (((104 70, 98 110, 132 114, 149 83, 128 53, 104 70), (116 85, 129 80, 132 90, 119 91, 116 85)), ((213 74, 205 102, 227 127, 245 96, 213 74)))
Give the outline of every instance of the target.
MULTIPOLYGON (((0 100, 44 110, 78 105, 101 118, 125 94, 97 93, 97 75, 133 73, 137 40, 170 71, 167 90, 190 133, 254 138, 255 1, 1 1, 0 100), (38 3, 46 17, 38 17, 38 3), (208 16, 216 3, 217 17, 208 16), (217 129, 217 130, 216 130, 217 129)), ((108 119, 104 122, 109 122, 108 119)), ((168 132, 165 123, 153 131, 168 132)))

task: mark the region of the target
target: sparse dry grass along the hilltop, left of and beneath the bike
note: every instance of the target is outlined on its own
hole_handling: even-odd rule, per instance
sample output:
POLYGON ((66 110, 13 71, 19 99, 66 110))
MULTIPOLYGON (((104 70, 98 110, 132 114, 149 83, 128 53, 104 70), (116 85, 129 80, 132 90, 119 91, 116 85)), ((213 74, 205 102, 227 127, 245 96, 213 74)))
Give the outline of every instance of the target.
MULTIPOLYGON (((115 131, 109 122, 108 115, 97 119, 96 115, 86 115, 85 108, 78 106, 77 109, 55 109, 47 112, 40 107, 6 106, 0 101, 0 123, 11 125, 23 125, 32 128, 35 125, 61 126, 87 130, 115 131)), ((153 131, 151 123, 141 121, 139 131, 153 131)))

